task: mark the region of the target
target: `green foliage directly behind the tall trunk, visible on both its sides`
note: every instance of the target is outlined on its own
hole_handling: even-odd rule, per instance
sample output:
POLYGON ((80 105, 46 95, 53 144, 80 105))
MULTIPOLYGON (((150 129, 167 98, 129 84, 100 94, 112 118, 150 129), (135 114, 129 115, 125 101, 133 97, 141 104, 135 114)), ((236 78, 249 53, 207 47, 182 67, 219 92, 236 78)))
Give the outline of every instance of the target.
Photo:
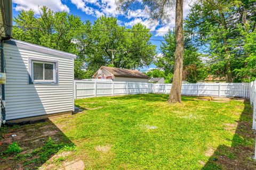
MULTIPOLYGON (((169 31, 164 36, 164 40, 161 44, 161 53, 156 57, 155 65, 164 70, 165 77, 172 78, 174 72, 174 55, 175 55, 175 33, 169 31)), ((207 76, 207 70, 201 69, 197 65, 201 63, 202 54, 197 52, 197 48, 190 43, 190 39, 185 35, 185 50, 183 58, 183 80, 189 82, 197 82, 198 80, 204 80, 207 76)))

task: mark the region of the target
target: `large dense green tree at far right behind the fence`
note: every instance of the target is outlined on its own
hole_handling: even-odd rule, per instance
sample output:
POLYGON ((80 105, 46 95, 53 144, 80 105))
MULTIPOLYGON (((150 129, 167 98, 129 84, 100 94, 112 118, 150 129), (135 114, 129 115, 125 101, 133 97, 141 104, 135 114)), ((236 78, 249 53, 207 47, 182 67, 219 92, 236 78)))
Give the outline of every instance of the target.
POLYGON ((255 79, 255 8, 254 0, 201 0, 194 4, 185 21, 196 46, 205 49, 211 74, 228 82, 255 79), (253 45, 254 41, 254 45, 253 45))

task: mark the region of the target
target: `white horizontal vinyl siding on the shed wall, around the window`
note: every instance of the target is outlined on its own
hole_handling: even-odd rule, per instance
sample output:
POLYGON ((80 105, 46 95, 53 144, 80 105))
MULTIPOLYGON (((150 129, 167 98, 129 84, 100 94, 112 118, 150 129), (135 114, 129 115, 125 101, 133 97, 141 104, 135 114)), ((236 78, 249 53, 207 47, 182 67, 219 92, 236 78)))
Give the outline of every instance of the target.
POLYGON ((73 111, 74 59, 4 45, 6 120, 73 111), (58 61, 58 84, 29 84, 29 57, 58 61))

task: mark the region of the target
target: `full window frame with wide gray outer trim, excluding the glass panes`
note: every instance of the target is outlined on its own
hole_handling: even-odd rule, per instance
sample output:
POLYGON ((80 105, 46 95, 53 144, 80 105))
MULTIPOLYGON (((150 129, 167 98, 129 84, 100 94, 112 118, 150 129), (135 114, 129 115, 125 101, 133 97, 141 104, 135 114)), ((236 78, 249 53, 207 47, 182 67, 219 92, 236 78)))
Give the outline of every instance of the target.
MULTIPOLYGON (((44 79, 43 64, 43 79, 44 79)), ((49 60, 46 58, 28 57, 28 83, 29 84, 59 84, 59 61, 49 60), (34 80, 34 63, 53 64, 53 80, 34 80)))

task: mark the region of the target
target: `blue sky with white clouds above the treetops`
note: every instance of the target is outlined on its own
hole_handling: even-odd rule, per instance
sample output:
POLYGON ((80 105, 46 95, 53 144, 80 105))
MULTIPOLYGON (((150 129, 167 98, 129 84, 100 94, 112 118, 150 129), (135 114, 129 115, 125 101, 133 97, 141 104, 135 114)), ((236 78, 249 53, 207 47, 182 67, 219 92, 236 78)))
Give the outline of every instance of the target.
MULTIPOLYGON (((141 0, 138 0, 138 2, 141 0)), ((189 12, 190 5, 193 4, 193 0, 189 0, 184 4, 184 16, 189 12)), ((53 11, 67 11, 70 14, 80 16, 82 21, 90 20, 92 23, 101 15, 115 16, 118 19, 118 24, 125 25, 127 28, 131 28, 135 23, 141 22, 145 24, 151 31, 163 31, 153 33, 154 36, 151 39, 162 40, 164 32, 174 28, 175 20, 174 8, 166 9, 166 12, 172 18, 171 22, 166 24, 159 24, 158 22, 149 22, 149 15, 145 8, 138 8, 134 11, 128 11, 126 13, 119 12, 116 9, 115 0, 12 0, 13 2, 13 16, 17 16, 20 10, 32 9, 36 14, 39 13, 39 7, 47 6, 53 11)), ((161 41, 151 40, 151 43, 157 46, 159 53, 159 47, 161 41)), ((150 65, 149 68, 153 68, 155 65, 150 65)), ((143 68, 142 70, 145 70, 143 68)))

